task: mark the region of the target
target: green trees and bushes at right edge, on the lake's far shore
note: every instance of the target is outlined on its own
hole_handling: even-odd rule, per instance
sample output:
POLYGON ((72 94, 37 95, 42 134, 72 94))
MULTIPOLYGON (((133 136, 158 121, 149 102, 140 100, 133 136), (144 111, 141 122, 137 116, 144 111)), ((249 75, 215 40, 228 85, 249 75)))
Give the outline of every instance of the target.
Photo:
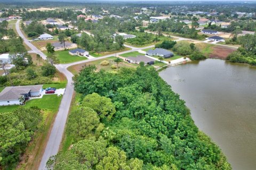
POLYGON ((242 47, 239 47, 235 52, 231 53, 227 60, 236 63, 247 63, 256 65, 256 34, 245 35, 238 37, 242 47))

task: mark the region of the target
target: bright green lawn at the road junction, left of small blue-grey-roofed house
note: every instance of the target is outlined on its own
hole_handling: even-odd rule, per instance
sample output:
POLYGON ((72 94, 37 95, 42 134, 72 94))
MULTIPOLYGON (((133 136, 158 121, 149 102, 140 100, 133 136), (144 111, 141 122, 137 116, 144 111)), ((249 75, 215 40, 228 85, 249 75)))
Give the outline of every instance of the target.
POLYGON ((87 57, 73 56, 68 53, 68 50, 56 51, 57 58, 59 58, 60 63, 74 63, 82 60, 87 60, 87 57))

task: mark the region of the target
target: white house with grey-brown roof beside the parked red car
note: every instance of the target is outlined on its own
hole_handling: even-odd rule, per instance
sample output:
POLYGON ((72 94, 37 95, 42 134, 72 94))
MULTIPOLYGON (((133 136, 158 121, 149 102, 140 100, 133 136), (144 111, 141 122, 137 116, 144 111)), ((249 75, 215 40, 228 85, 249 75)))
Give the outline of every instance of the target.
POLYGON ((6 87, 0 92, 0 106, 20 105, 22 97, 27 100, 29 97, 40 96, 43 85, 6 87))

